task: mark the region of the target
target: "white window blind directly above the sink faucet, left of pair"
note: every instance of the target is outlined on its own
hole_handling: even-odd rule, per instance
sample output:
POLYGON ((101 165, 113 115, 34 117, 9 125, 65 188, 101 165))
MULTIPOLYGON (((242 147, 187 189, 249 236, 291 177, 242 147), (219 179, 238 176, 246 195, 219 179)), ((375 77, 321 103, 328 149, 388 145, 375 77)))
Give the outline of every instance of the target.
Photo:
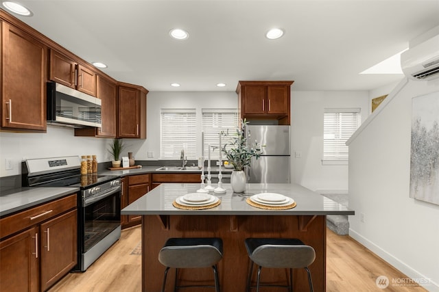
POLYGON ((187 159, 196 159, 195 109, 161 110, 161 159, 180 159, 185 150, 187 159))

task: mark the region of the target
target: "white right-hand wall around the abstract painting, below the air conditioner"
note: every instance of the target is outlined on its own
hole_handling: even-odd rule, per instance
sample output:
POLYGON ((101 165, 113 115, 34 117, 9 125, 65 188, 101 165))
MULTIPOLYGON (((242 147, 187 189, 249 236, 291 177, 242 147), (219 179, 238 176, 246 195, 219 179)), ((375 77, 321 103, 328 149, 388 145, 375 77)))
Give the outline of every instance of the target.
POLYGON ((438 91, 439 79, 404 79, 349 141, 349 235, 410 278, 431 280, 429 291, 439 291, 439 205, 409 198, 410 134, 412 98, 438 91))

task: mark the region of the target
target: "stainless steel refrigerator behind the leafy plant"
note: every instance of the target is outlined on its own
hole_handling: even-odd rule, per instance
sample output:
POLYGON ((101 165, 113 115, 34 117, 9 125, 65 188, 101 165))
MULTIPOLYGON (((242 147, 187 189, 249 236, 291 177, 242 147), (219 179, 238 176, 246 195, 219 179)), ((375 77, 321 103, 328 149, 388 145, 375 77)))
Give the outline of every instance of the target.
POLYGON ((262 155, 252 158, 247 172, 249 183, 289 183, 289 126, 247 125, 248 145, 265 145, 262 155))

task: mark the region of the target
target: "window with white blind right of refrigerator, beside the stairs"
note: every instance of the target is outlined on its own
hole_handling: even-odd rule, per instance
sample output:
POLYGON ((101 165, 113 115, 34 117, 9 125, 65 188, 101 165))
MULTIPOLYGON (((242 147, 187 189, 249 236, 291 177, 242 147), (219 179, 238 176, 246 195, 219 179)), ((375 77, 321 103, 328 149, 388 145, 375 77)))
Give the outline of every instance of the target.
POLYGON ((348 161, 346 141, 361 123, 360 109, 324 109, 323 162, 348 161))

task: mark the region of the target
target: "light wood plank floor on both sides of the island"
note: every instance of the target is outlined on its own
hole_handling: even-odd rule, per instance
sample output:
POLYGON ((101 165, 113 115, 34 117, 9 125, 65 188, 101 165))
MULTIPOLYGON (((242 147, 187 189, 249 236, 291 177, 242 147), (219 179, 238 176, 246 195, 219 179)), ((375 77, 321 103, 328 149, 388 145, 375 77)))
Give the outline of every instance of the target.
MULTIPOLYGON (((141 291, 141 256, 131 254, 140 241, 140 226, 122 230, 121 239, 88 267, 87 271, 68 274, 49 291, 141 291)), ((327 229, 328 292, 426 291, 422 287, 396 287, 392 285, 392 278, 405 279, 407 276, 351 237, 336 235, 327 229), (375 284, 379 276, 386 276, 390 280, 387 289, 379 289, 375 284)))

